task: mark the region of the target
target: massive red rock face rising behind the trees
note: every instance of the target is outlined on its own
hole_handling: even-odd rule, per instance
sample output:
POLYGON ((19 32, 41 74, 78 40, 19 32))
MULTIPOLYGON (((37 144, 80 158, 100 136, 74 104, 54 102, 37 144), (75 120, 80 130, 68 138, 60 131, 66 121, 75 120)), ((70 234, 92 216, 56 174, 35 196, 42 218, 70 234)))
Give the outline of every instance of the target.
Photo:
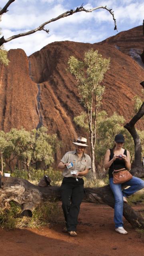
MULTIPOLYGON (((144 69, 130 56, 130 49, 142 52, 144 48, 142 26, 97 44, 54 42, 29 58, 23 50, 10 50, 9 66, 0 66, 0 129, 46 126, 50 134, 58 134, 63 142, 58 159, 74 148, 74 138, 88 137, 73 121, 84 107, 76 81, 66 69, 71 55, 82 60, 90 48, 111 59, 103 81, 106 89, 102 109, 109 115, 116 111, 129 121, 134 114, 132 98, 141 95, 140 82, 144 80, 144 69)), ((144 128, 144 123, 139 122, 139 127, 144 128)))

